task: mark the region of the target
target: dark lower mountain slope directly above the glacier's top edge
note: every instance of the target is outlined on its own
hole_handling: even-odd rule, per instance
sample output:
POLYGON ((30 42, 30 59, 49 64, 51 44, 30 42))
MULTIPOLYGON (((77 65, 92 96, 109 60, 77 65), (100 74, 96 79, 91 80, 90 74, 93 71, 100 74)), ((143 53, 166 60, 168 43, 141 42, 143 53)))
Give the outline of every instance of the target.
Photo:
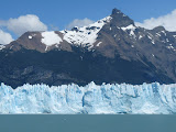
POLYGON ((40 53, 21 50, 8 55, 0 54, 0 81, 13 87, 30 84, 78 84, 102 82, 174 82, 146 58, 125 61, 120 56, 107 58, 97 53, 51 51, 40 53))

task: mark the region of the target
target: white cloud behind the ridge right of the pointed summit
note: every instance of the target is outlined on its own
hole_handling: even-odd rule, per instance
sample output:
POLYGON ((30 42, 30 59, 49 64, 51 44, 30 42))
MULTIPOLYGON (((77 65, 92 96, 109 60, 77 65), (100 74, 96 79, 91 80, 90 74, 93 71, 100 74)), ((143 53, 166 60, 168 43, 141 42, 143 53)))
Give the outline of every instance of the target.
POLYGON ((166 15, 160 18, 151 18, 144 20, 142 23, 136 22, 135 24, 138 26, 142 26, 150 30, 163 25, 168 31, 176 31, 176 9, 166 15))

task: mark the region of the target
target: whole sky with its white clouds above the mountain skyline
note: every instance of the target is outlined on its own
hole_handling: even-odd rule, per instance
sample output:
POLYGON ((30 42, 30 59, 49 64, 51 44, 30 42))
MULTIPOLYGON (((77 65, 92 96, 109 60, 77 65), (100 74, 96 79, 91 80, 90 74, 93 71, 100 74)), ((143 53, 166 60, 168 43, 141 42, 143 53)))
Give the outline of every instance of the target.
POLYGON ((1 0, 0 43, 26 31, 51 31, 84 26, 111 14, 113 8, 152 29, 176 23, 176 0, 1 0))

